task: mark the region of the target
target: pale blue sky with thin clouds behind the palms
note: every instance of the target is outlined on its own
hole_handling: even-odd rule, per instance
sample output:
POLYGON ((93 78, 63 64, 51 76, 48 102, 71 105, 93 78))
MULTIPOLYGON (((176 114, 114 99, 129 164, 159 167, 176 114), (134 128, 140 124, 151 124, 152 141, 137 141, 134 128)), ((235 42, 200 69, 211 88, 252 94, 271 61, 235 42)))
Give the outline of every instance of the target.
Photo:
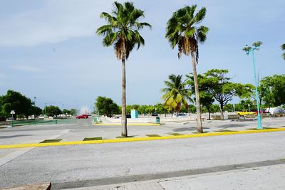
MULTIPOLYGON (((259 78, 284 74, 284 0, 133 2, 145 11, 140 21, 152 24, 152 29, 141 31, 145 46, 134 50, 126 63, 128 105, 162 102, 160 89, 168 75, 192 72, 191 58, 178 59, 177 48, 165 39, 167 20, 186 5, 207 9, 201 24, 209 33, 199 46, 198 73, 228 69, 233 82, 254 84, 252 58, 242 48, 262 41, 255 53, 259 78)), ((112 10, 109 0, 1 0, 0 95, 15 90, 31 100, 36 97, 42 108, 92 109, 99 95, 120 105, 120 60, 95 33, 105 24, 100 13, 112 10)))

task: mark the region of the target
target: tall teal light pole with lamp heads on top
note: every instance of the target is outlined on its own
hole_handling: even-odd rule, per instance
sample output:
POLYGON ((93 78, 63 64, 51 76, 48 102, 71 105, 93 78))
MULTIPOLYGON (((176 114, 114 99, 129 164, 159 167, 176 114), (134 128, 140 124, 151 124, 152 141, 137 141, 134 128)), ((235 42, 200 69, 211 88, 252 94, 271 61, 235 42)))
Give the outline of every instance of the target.
POLYGON ((256 68, 255 68, 254 51, 255 50, 259 51, 261 44, 262 44, 261 41, 257 41, 257 42, 254 42, 252 44, 252 46, 254 46, 254 48, 249 47, 247 45, 243 48, 243 51, 245 51, 245 53, 247 53, 247 56, 249 56, 249 53, 252 53, 252 63, 254 65, 255 96, 257 99, 257 122, 258 122, 257 130, 262 130, 262 125, 261 125, 261 116, 260 116, 260 110, 259 110, 259 93, 257 90, 257 72, 256 72, 256 68))

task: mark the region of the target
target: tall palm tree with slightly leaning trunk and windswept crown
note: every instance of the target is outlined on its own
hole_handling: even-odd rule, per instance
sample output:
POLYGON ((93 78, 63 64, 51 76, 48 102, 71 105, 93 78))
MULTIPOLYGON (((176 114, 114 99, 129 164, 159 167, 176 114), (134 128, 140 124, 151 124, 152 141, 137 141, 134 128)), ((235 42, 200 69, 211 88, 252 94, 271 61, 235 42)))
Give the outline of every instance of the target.
POLYGON ((178 46, 178 58, 184 53, 186 56, 192 57, 192 68, 195 82, 195 96, 197 107, 197 133, 202 133, 201 109, 199 101, 199 89, 197 80, 196 65, 199 59, 199 43, 204 43, 207 38, 209 28, 206 26, 197 26, 201 23, 206 15, 206 8, 202 7, 195 14, 196 5, 185 6, 176 11, 167 22, 166 35, 172 48, 178 46))

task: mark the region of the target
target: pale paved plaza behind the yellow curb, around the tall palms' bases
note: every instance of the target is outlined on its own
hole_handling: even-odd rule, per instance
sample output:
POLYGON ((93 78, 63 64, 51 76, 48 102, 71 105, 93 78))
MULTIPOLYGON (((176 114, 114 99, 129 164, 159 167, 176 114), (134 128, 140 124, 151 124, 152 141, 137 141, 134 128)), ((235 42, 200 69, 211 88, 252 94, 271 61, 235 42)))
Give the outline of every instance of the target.
MULTIPOLYGON (((187 118, 186 118, 187 119, 187 118)), ((284 118, 267 118, 262 120, 263 127, 284 127, 284 118)), ((133 137, 172 136, 174 134, 193 134, 197 122, 166 122, 160 126, 128 126, 128 135, 133 137)), ((206 120, 203 122, 204 132, 254 129, 257 121, 232 121, 232 120, 206 120)), ((61 142, 83 141, 84 138, 102 137, 102 139, 116 139, 120 136, 121 126, 93 125, 93 119, 76 120, 68 124, 52 125, 26 125, 0 129, 0 145, 38 143, 46 139, 61 139, 61 142)))

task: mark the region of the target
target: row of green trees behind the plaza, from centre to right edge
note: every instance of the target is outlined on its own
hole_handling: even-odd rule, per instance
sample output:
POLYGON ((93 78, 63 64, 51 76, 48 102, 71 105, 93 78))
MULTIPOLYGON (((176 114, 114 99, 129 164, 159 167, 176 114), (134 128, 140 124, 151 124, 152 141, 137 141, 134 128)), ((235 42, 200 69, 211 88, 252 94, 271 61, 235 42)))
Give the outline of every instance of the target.
MULTIPOLYGON (((199 99, 201 102, 201 112, 210 114, 220 112, 223 119, 223 112, 234 112, 237 110, 257 110, 254 86, 251 84, 233 83, 232 78, 227 76, 228 70, 212 69, 206 73, 197 75, 199 80, 199 99), (234 97, 239 97, 237 104, 231 104, 234 97), (214 104, 217 102, 219 104, 214 104)), ((196 113, 195 89, 193 85, 192 73, 185 76, 169 75, 169 80, 165 80, 166 88, 160 91, 163 103, 155 105, 126 105, 126 113, 131 110, 138 110, 140 115, 172 114, 174 112, 196 113)), ((259 82, 259 102, 260 107, 277 107, 285 105, 285 75, 273 75, 261 78, 259 82)), ((95 113, 113 117, 120 115, 120 105, 117 105, 109 97, 97 97, 95 100, 95 113)), ((285 106, 284 106, 285 107, 285 106)))

